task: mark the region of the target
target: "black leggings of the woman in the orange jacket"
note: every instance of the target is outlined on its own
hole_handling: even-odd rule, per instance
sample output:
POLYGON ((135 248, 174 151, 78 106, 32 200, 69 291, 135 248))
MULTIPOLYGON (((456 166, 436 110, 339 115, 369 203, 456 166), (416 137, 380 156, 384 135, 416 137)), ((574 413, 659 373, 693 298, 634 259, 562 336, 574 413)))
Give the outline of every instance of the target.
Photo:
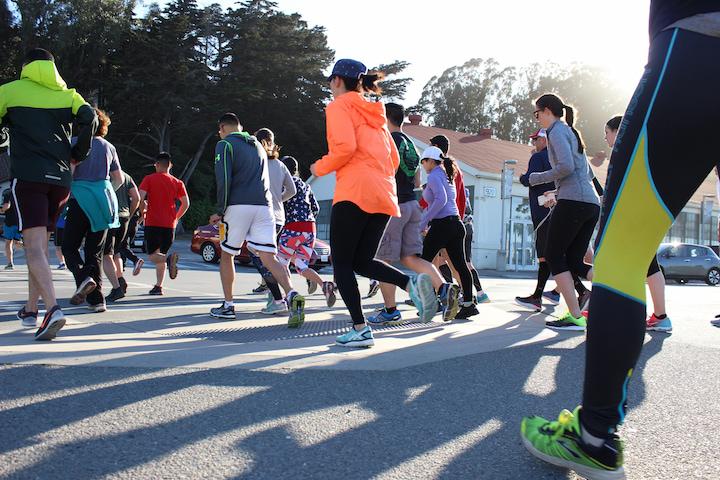
POLYGON ((330 215, 330 249, 335 282, 354 325, 365 323, 355 273, 407 288, 410 277, 375 258, 388 215, 366 213, 352 202, 333 205, 330 215))

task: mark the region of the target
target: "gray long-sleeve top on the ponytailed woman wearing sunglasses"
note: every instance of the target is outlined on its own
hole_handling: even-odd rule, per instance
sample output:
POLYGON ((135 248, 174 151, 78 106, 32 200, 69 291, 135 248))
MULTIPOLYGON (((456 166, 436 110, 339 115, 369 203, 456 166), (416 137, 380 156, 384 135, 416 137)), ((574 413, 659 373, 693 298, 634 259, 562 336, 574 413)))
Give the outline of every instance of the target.
POLYGON ((547 129, 548 159, 552 169, 531 173, 530 185, 555 182, 558 200, 600 205, 592 179, 590 164, 584 153, 578 152, 578 141, 568 124, 556 121, 547 129))

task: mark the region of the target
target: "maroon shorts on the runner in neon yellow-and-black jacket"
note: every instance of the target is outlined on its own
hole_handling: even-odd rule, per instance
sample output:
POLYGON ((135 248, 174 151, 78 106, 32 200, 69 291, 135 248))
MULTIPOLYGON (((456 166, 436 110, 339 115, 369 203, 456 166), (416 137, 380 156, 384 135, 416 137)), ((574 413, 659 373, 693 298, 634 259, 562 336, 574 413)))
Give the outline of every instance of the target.
POLYGON ((70 196, 70 189, 49 183, 13 180, 12 192, 20 231, 27 228, 55 229, 55 222, 70 196))

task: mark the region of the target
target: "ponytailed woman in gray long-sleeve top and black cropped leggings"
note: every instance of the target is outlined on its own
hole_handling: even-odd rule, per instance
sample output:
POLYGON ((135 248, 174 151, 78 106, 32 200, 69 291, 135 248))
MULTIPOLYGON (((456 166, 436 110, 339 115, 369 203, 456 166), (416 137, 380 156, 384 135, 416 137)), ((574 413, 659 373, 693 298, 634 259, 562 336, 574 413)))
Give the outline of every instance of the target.
POLYGON ((530 185, 555 182, 557 187, 545 256, 568 307, 563 317, 546 325, 558 330, 585 330, 587 322, 575 296, 573 274, 592 280, 592 265, 586 264, 583 257, 600 216, 600 200, 585 145, 573 126, 574 109, 553 94, 539 97, 535 107, 535 118, 547 132, 552 169, 531 173, 528 181, 530 185))

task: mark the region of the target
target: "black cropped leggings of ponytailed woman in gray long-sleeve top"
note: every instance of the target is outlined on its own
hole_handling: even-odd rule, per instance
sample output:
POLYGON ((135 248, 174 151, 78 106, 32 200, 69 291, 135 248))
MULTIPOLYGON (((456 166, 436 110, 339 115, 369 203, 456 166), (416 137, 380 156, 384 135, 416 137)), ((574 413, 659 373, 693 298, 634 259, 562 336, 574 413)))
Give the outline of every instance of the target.
POLYGON ((587 278, 592 268, 583 258, 600 216, 600 207, 574 200, 558 200, 548 230, 545 259, 553 275, 571 272, 587 278))

